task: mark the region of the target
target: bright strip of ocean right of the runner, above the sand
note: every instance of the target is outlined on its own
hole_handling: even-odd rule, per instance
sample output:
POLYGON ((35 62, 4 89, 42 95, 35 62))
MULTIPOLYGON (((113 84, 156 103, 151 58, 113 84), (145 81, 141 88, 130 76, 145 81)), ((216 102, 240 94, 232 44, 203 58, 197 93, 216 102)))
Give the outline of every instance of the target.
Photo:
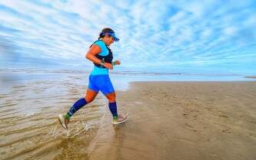
POLYGON ((111 80, 117 90, 127 90, 134 81, 251 81, 241 74, 219 73, 111 73, 111 80))

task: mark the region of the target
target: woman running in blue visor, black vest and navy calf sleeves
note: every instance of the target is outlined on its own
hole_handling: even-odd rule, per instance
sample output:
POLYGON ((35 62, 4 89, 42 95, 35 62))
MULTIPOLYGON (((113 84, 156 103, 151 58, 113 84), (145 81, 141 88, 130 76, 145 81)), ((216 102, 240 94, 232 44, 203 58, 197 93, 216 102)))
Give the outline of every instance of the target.
POLYGON ((95 67, 89 76, 86 95, 84 98, 76 101, 68 110, 68 113, 58 115, 58 121, 65 129, 68 129, 68 122, 71 116, 73 116, 78 109, 81 109, 82 106, 91 103, 95 99, 95 96, 97 96, 98 91, 101 91, 101 93, 108 98, 108 107, 113 116, 113 124, 116 125, 125 122, 127 115, 118 115, 115 90, 108 75, 108 70, 112 70, 113 66, 121 64, 119 60, 112 62, 113 54, 108 46, 114 43, 114 41, 119 41, 115 36, 115 31, 111 28, 104 28, 99 34, 98 41, 91 44, 86 58, 91 60, 95 64, 95 67))

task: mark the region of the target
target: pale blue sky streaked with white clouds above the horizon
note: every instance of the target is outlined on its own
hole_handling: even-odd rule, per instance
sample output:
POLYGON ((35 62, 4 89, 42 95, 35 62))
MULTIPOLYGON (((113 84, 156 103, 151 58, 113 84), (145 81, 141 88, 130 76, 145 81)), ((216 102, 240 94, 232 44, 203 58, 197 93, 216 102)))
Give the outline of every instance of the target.
POLYGON ((91 70, 102 28, 118 70, 256 74, 256 1, 0 0, 0 67, 91 70))

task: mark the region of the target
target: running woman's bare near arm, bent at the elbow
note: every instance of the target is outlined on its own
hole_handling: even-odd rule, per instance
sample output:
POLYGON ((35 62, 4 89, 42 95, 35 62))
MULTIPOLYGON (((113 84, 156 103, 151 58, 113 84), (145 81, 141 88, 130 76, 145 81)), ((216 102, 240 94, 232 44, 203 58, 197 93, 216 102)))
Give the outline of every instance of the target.
MULTIPOLYGON (((89 49, 89 51, 87 52, 87 54, 86 54, 86 58, 88 59, 88 60, 91 60, 92 62, 94 62, 95 64, 101 64, 101 60, 100 59, 98 59, 98 57, 95 57, 95 55, 97 55, 97 54, 99 54, 99 53, 101 53, 101 47, 98 47, 98 45, 96 45, 96 44, 93 44, 91 47, 90 47, 90 49, 89 49)), ((113 66, 112 66, 112 64, 108 64, 108 63, 104 63, 104 67, 107 67, 108 69, 113 69, 113 66)))

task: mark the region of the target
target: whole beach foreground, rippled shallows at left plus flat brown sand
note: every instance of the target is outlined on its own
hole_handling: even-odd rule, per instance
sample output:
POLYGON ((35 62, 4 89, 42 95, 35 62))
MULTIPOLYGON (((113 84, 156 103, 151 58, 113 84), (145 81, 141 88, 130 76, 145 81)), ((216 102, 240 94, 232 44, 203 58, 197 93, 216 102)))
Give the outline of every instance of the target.
POLYGON ((128 122, 112 126, 100 94, 65 131, 56 117, 83 95, 86 86, 74 83, 80 79, 24 83, 2 93, 0 159, 256 158, 256 82, 130 83, 117 91, 128 122))

